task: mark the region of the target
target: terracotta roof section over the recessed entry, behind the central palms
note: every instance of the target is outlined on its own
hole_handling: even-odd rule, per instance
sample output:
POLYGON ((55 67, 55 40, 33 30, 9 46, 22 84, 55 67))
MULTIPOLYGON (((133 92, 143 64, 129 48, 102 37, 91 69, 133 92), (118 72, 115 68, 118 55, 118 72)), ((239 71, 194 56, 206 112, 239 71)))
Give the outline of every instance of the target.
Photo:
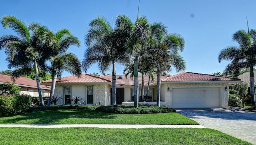
MULTIPOLYGON (((149 75, 144 75, 144 85, 148 85, 148 77, 149 75)), ((164 79, 166 77, 169 77, 169 76, 166 76, 166 75, 162 75, 161 76, 161 79, 164 79)), ((112 75, 106 75, 106 76, 101 76, 101 78, 105 78, 107 80, 110 80, 112 82, 112 75)), ((138 76, 138 79, 139 79, 139 85, 142 85, 142 74, 139 74, 138 76)), ((157 82, 157 75, 154 74, 154 81, 152 82, 151 81, 151 78, 150 78, 150 85, 155 85, 157 82)), ((130 78, 130 75, 127 76, 127 78, 125 77, 124 74, 117 74, 116 75, 116 85, 120 85, 120 86, 133 86, 134 84, 134 80, 132 80, 132 78, 130 78), (119 76, 122 76, 122 79, 118 79, 119 76)))

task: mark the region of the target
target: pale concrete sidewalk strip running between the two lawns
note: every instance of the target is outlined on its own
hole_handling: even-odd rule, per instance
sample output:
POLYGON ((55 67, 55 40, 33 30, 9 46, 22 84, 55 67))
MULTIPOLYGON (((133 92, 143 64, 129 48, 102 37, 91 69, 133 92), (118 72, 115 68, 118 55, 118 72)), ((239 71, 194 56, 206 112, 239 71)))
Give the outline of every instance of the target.
POLYGON ((0 127, 30 128, 66 128, 66 127, 98 127, 98 128, 206 128, 202 125, 158 125, 158 124, 0 124, 0 127))

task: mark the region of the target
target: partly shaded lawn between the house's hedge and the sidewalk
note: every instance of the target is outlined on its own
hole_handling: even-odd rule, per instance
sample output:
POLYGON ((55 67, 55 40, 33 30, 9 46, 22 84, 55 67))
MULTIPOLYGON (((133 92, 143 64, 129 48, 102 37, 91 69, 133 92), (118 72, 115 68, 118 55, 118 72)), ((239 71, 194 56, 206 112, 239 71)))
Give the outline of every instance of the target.
POLYGON ((198 124, 178 113, 110 114, 98 110, 51 110, 0 118, 0 124, 198 124))

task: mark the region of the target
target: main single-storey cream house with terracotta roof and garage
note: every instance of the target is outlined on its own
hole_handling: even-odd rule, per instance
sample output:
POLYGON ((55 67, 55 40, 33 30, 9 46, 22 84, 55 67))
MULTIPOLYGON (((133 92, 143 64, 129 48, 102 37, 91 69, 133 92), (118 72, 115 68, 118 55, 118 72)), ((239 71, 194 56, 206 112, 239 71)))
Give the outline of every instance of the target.
MULTIPOLYGON (((117 104, 132 105, 134 100, 133 80, 125 75, 116 75, 116 102, 117 104)), ((139 95, 142 92, 142 75, 139 75, 139 95)), ((147 102, 143 104, 156 104, 156 75, 154 81, 150 80, 150 90, 147 102)), ((43 81, 42 84, 51 85, 52 80, 43 81)), ((161 105, 172 108, 223 108, 228 107, 228 86, 239 83, 240 79, 210 74, 182 72, 174 76, 161 78, 160 100, 161 105)), ((148 75, 144 75, 144 95, 148 85, 148 75)), ((63 77, 56 80, 54 95, 63 99, 58 104, 72 104, 68 98, 82 97, 85 104, 111 105, 112 104, 112 75, 93 76, 82 74, 63 77)), ((145 97, 144 100, 145 101, 145 97)))

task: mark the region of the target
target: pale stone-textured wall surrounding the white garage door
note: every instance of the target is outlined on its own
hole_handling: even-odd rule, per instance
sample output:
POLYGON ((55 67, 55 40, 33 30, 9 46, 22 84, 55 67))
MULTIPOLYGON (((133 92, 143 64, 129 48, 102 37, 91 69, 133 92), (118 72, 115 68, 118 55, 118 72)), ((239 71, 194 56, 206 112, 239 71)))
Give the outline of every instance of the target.
MULTIPOLYGON (((166 84, 166 106, 172 107, 172 88, 220 88, 220 108, 228 107, 228 83, 183 83, 183 84, 166 84), (168 87, 170 92, 167 91, 168 87)), ((161 87, 162 88, 162 87, 161 87)))

